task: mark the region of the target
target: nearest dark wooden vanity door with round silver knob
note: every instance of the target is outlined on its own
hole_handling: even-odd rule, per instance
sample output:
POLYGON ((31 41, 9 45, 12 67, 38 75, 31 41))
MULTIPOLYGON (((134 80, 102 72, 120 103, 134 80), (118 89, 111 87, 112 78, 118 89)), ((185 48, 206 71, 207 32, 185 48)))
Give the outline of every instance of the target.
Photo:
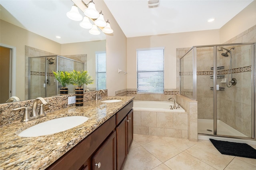
POLYGON ((92 170, 116 170, 116 131, 92 156, 92 170))

